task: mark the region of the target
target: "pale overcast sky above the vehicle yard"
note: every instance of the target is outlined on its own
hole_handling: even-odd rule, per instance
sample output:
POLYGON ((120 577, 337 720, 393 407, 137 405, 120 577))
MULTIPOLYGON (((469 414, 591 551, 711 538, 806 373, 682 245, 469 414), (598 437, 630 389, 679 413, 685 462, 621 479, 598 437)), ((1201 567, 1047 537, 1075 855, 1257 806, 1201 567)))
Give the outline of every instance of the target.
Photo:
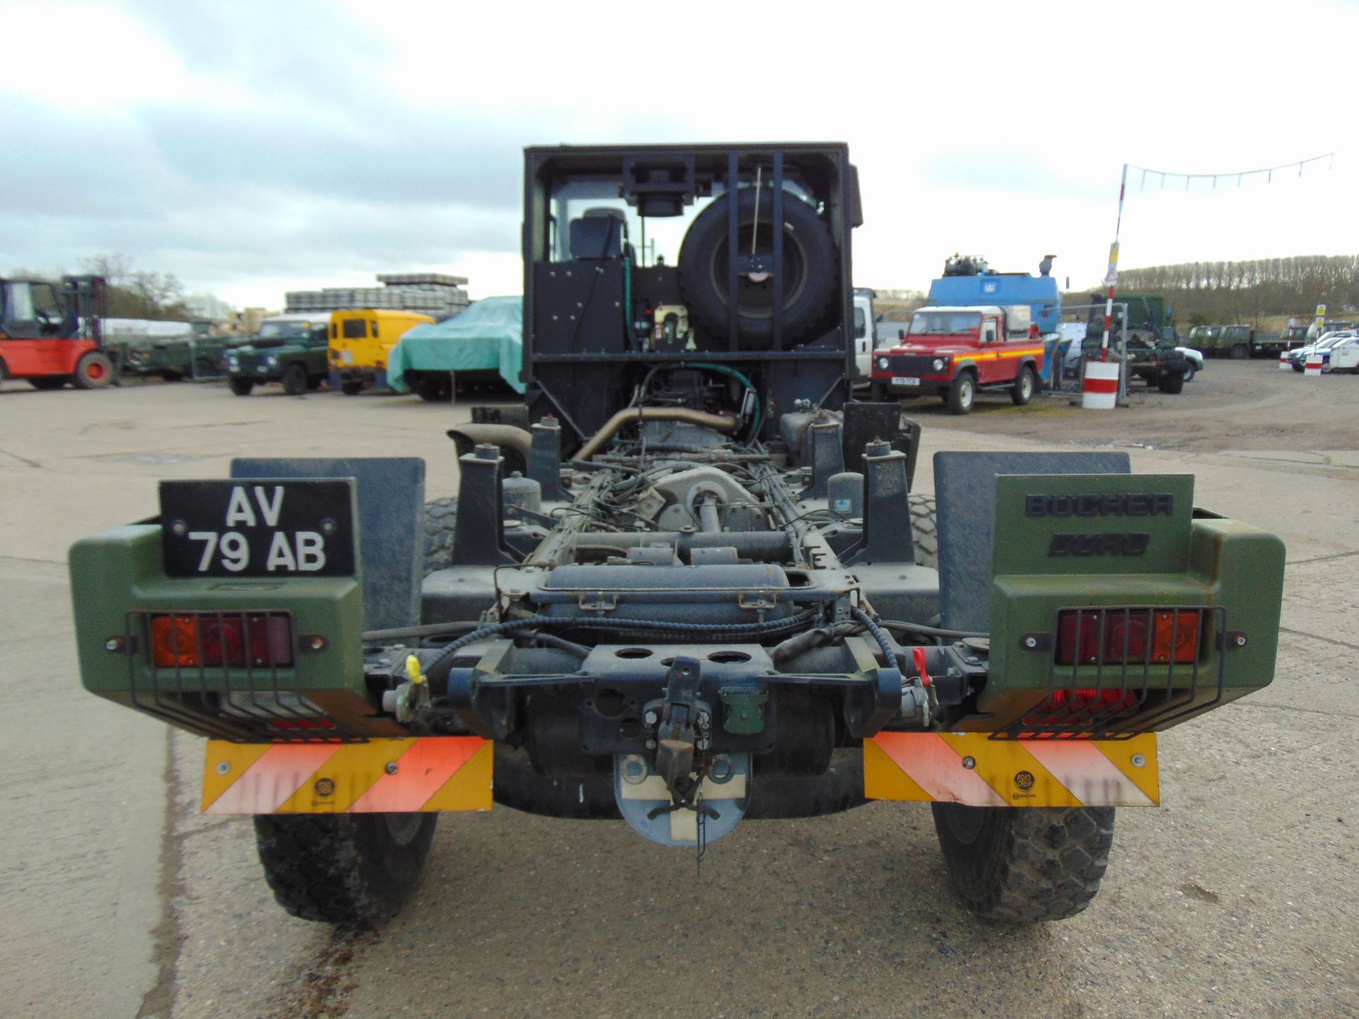
POLYGON ((94 253, 279 306, 375 272, 515 293, 529 144, 843 140, 859 285, 947 254, 1123 268, 1359 249, 1359 5, 0 0, 0 272, 94 253), (1329 166, 1329 168, 1328 168, 1329 166))

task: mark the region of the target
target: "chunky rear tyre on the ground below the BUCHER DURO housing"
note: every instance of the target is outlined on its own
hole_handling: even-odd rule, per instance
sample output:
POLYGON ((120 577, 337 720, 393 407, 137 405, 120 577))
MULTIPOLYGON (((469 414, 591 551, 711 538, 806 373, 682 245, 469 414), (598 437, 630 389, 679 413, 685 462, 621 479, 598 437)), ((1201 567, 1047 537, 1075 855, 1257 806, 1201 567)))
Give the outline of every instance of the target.
POLYGON ((1099 891, 1113 807, 931 807, 949 876, 976 916, 1011 924, 1065 920, 1099 891))

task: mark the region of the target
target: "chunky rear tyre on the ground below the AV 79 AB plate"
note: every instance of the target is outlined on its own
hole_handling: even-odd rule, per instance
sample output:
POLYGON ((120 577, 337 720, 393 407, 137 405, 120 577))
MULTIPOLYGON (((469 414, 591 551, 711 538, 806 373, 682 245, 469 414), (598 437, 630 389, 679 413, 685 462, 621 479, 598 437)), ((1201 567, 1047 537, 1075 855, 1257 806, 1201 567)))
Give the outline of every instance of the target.
POLYGON ((255 845, 275 899, 302 920, 371 924, 420 879, 438 814, 260 814, 255 845))

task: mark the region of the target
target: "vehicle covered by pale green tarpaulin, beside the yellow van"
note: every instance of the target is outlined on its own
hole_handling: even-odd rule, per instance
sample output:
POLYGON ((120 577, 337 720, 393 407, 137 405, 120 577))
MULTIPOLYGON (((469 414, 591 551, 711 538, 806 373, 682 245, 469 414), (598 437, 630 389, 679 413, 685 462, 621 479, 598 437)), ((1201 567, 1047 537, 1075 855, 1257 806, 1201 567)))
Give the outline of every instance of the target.
POLYGON ((523 393, 523 298, 482 298, 461 315, 416 326, 387 357, 387 385, 405 393, 408 371, 497 371, 523 393))

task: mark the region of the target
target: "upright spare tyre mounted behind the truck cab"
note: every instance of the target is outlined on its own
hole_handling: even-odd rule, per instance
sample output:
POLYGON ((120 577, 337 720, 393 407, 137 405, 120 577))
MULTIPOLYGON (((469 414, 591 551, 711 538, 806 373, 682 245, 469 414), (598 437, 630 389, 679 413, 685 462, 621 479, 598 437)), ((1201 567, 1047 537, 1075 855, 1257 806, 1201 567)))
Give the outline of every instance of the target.
MULTIPOLYGON (((723 194, 694 217, 680 247, 680 292, 689 314, 712 337, 726 340, 730 332, 727 293, 728 223, 731 197, 723 194)), ((750 227, 756 224, 756 189, 737 192, 738 236, 749 250, 750 227)), ((760 189, 758 227, 773 221, 773 192, 760 189)), ((815 326, 836 292, 839 260, 830 231, 817 211, 791 192, 783 196, 783 342, 802 340, 815 326)), ((773 279, 753 283, 738 279, 738 329, 750 344, 773 340, 773 279)))

